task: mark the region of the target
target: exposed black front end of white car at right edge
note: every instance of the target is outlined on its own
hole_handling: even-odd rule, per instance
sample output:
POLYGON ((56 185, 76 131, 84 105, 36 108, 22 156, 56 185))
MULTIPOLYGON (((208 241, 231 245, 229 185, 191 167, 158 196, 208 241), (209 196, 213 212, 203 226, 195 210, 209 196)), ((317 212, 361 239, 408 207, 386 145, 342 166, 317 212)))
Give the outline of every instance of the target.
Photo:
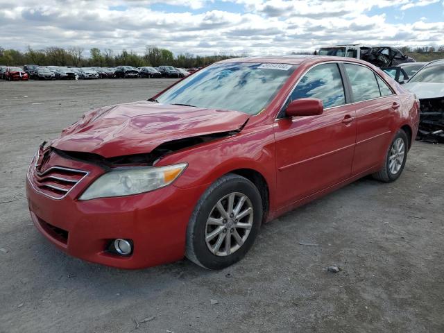
POLYGON ((444 96, 420 99, 420 123, 416 139, 444 143, 444 96))

